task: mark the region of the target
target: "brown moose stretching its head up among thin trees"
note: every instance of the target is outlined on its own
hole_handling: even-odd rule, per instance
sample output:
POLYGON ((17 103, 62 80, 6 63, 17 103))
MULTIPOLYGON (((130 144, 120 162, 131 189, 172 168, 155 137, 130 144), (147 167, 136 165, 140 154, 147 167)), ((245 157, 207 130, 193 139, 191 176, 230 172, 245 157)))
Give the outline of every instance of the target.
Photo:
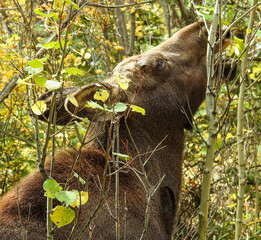
MULTIPOLYGON (((228 39, 223 39, 223 46, 228 39)), ((57 182, 67 181, 73 164, 74 171, 87 179, 89 200, 79 211, 71 239, 115 238, 116 184, 120 239, 171 239, 182 183, 184 130, 191 128, 193 114, 205 98, 206 52, 207 30, 204 22, 196 22, 157 47, 123 60, 103 82, 64 88, 57 95, 57 124, 67 125, 83 118, 92 122, 80 151, 61 149, 54 157, 53 178, 57 182), (128 88, 121 88, 118 78, 127 79, 128 88), (86 106, 87 102, 96 101, 94 94, 100 90, 109 93, 107 106, 119 102, 127 106, 114 126, 118 129, 118 152, 131 160, 129 164, 121 163, 119 168, 114 166, 112 151, 107 151, 112 117, 86 106), (78 106, 69 100, 69 94, 78 106), (131 111, 134 104, 145 109, 145 115, 131 111), (116 173, 119 173, 118 183, 116 173), (103 179, 105 190, 101 191, 103 179)), ((49 106, 44 117, 40 117, 43 120, 48 121, 52 94, 48 92, 41 97, 49 106)), ((101 100, 98 102, 103 104, 101 100)), ((50 162, 49 158, 45 162, 47 174, 50 162)), ((43 182, 40 171, 34 170, 3 196, 1 239, 46 239, 43 182)), ((70 178, 67 186, 82 188, 76 177, 70 178)), ((54 239, 67 239, 71 229, 71 224, 55 229, 54 239)))

